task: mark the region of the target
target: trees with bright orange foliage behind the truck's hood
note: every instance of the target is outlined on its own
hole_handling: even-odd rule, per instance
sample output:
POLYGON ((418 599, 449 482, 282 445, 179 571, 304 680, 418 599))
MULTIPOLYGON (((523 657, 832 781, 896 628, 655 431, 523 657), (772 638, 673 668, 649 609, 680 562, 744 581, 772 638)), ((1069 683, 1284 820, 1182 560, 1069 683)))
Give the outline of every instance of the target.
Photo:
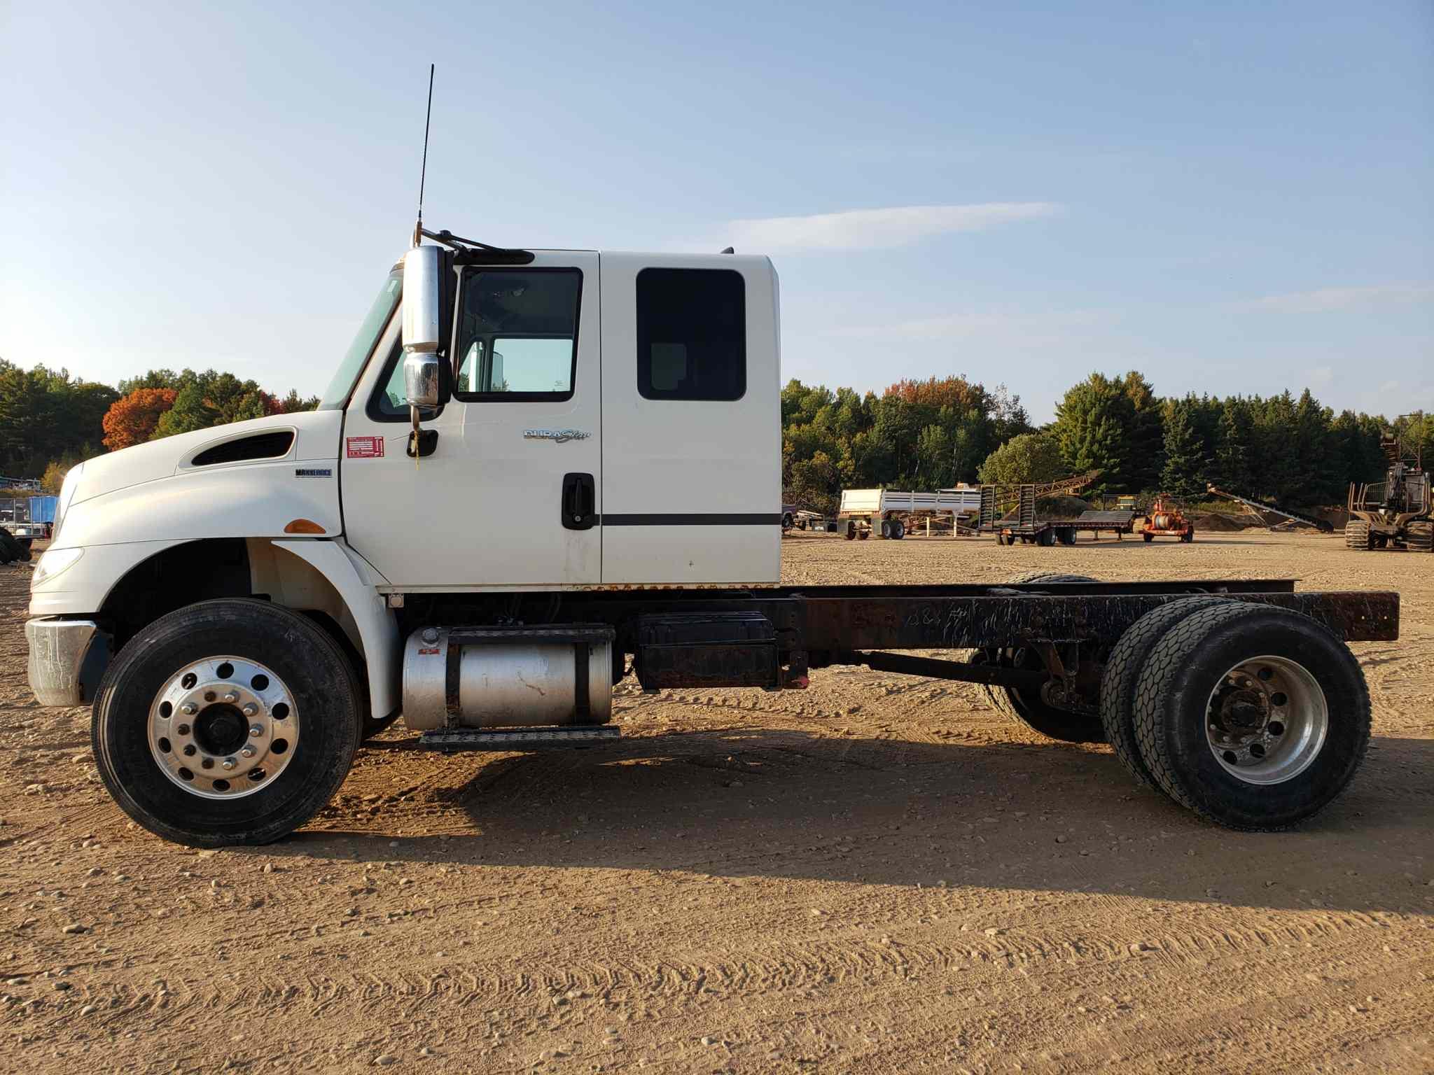
POLYGON ((218 370, 151 370, 110 387, 0 358, 0 474, 40 479, 53 493, 75 463, 106 450, 317 406, 317 396, 271 396, 218 370))

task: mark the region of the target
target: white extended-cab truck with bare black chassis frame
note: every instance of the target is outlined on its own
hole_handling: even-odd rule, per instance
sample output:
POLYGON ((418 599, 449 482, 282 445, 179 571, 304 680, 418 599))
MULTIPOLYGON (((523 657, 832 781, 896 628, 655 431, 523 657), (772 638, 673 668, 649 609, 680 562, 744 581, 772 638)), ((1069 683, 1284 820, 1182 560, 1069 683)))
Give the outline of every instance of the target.
POLYGON ((591 745, 627 675, 782 691, 832 665, 981 684, 1235 828, 1352 778, 1369 697, 1347 644, 1395 639, 1397 593, 783 586, 767 258, 414 239, 317 411, 65 480, 30 685, 92 705, 105 785, 151 831, 275 840, 400 717, 436 750, 591 745))

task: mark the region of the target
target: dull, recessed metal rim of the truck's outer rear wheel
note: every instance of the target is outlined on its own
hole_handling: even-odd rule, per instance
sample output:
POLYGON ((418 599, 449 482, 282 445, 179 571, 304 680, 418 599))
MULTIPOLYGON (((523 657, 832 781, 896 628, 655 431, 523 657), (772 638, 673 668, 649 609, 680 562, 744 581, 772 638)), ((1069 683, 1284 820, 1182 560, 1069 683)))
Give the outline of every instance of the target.
POLYGON ((1329 705, 1308 668, 1253 656, 1220 677, 1205 735, 1226 773, 1246 784, 1282 784, 1309 768, 1329 734, 1329 705))

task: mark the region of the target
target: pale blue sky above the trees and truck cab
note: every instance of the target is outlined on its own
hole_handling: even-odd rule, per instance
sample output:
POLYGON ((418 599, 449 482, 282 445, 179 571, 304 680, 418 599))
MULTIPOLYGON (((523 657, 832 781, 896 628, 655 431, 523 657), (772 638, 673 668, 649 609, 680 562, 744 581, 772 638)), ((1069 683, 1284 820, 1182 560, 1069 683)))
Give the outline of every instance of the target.
POLYGON ((1434 4, 0 6, 0 355, 317 393, 412 228, 770 252, 783 371, 1434 410, 1434 4))

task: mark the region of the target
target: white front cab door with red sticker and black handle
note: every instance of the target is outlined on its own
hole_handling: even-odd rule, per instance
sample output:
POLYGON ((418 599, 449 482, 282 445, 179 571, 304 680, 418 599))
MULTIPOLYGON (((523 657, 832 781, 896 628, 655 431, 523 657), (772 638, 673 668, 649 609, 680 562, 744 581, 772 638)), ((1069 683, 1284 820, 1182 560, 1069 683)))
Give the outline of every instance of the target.
POLYGON ((601 579, 601 340, 597 254, 457 269, 453 397, 410 429, 394 315, 344 420, 348 543, 400 589, 503 589, 601 579), (380 355, 383 360, 380 361, 380 355))

